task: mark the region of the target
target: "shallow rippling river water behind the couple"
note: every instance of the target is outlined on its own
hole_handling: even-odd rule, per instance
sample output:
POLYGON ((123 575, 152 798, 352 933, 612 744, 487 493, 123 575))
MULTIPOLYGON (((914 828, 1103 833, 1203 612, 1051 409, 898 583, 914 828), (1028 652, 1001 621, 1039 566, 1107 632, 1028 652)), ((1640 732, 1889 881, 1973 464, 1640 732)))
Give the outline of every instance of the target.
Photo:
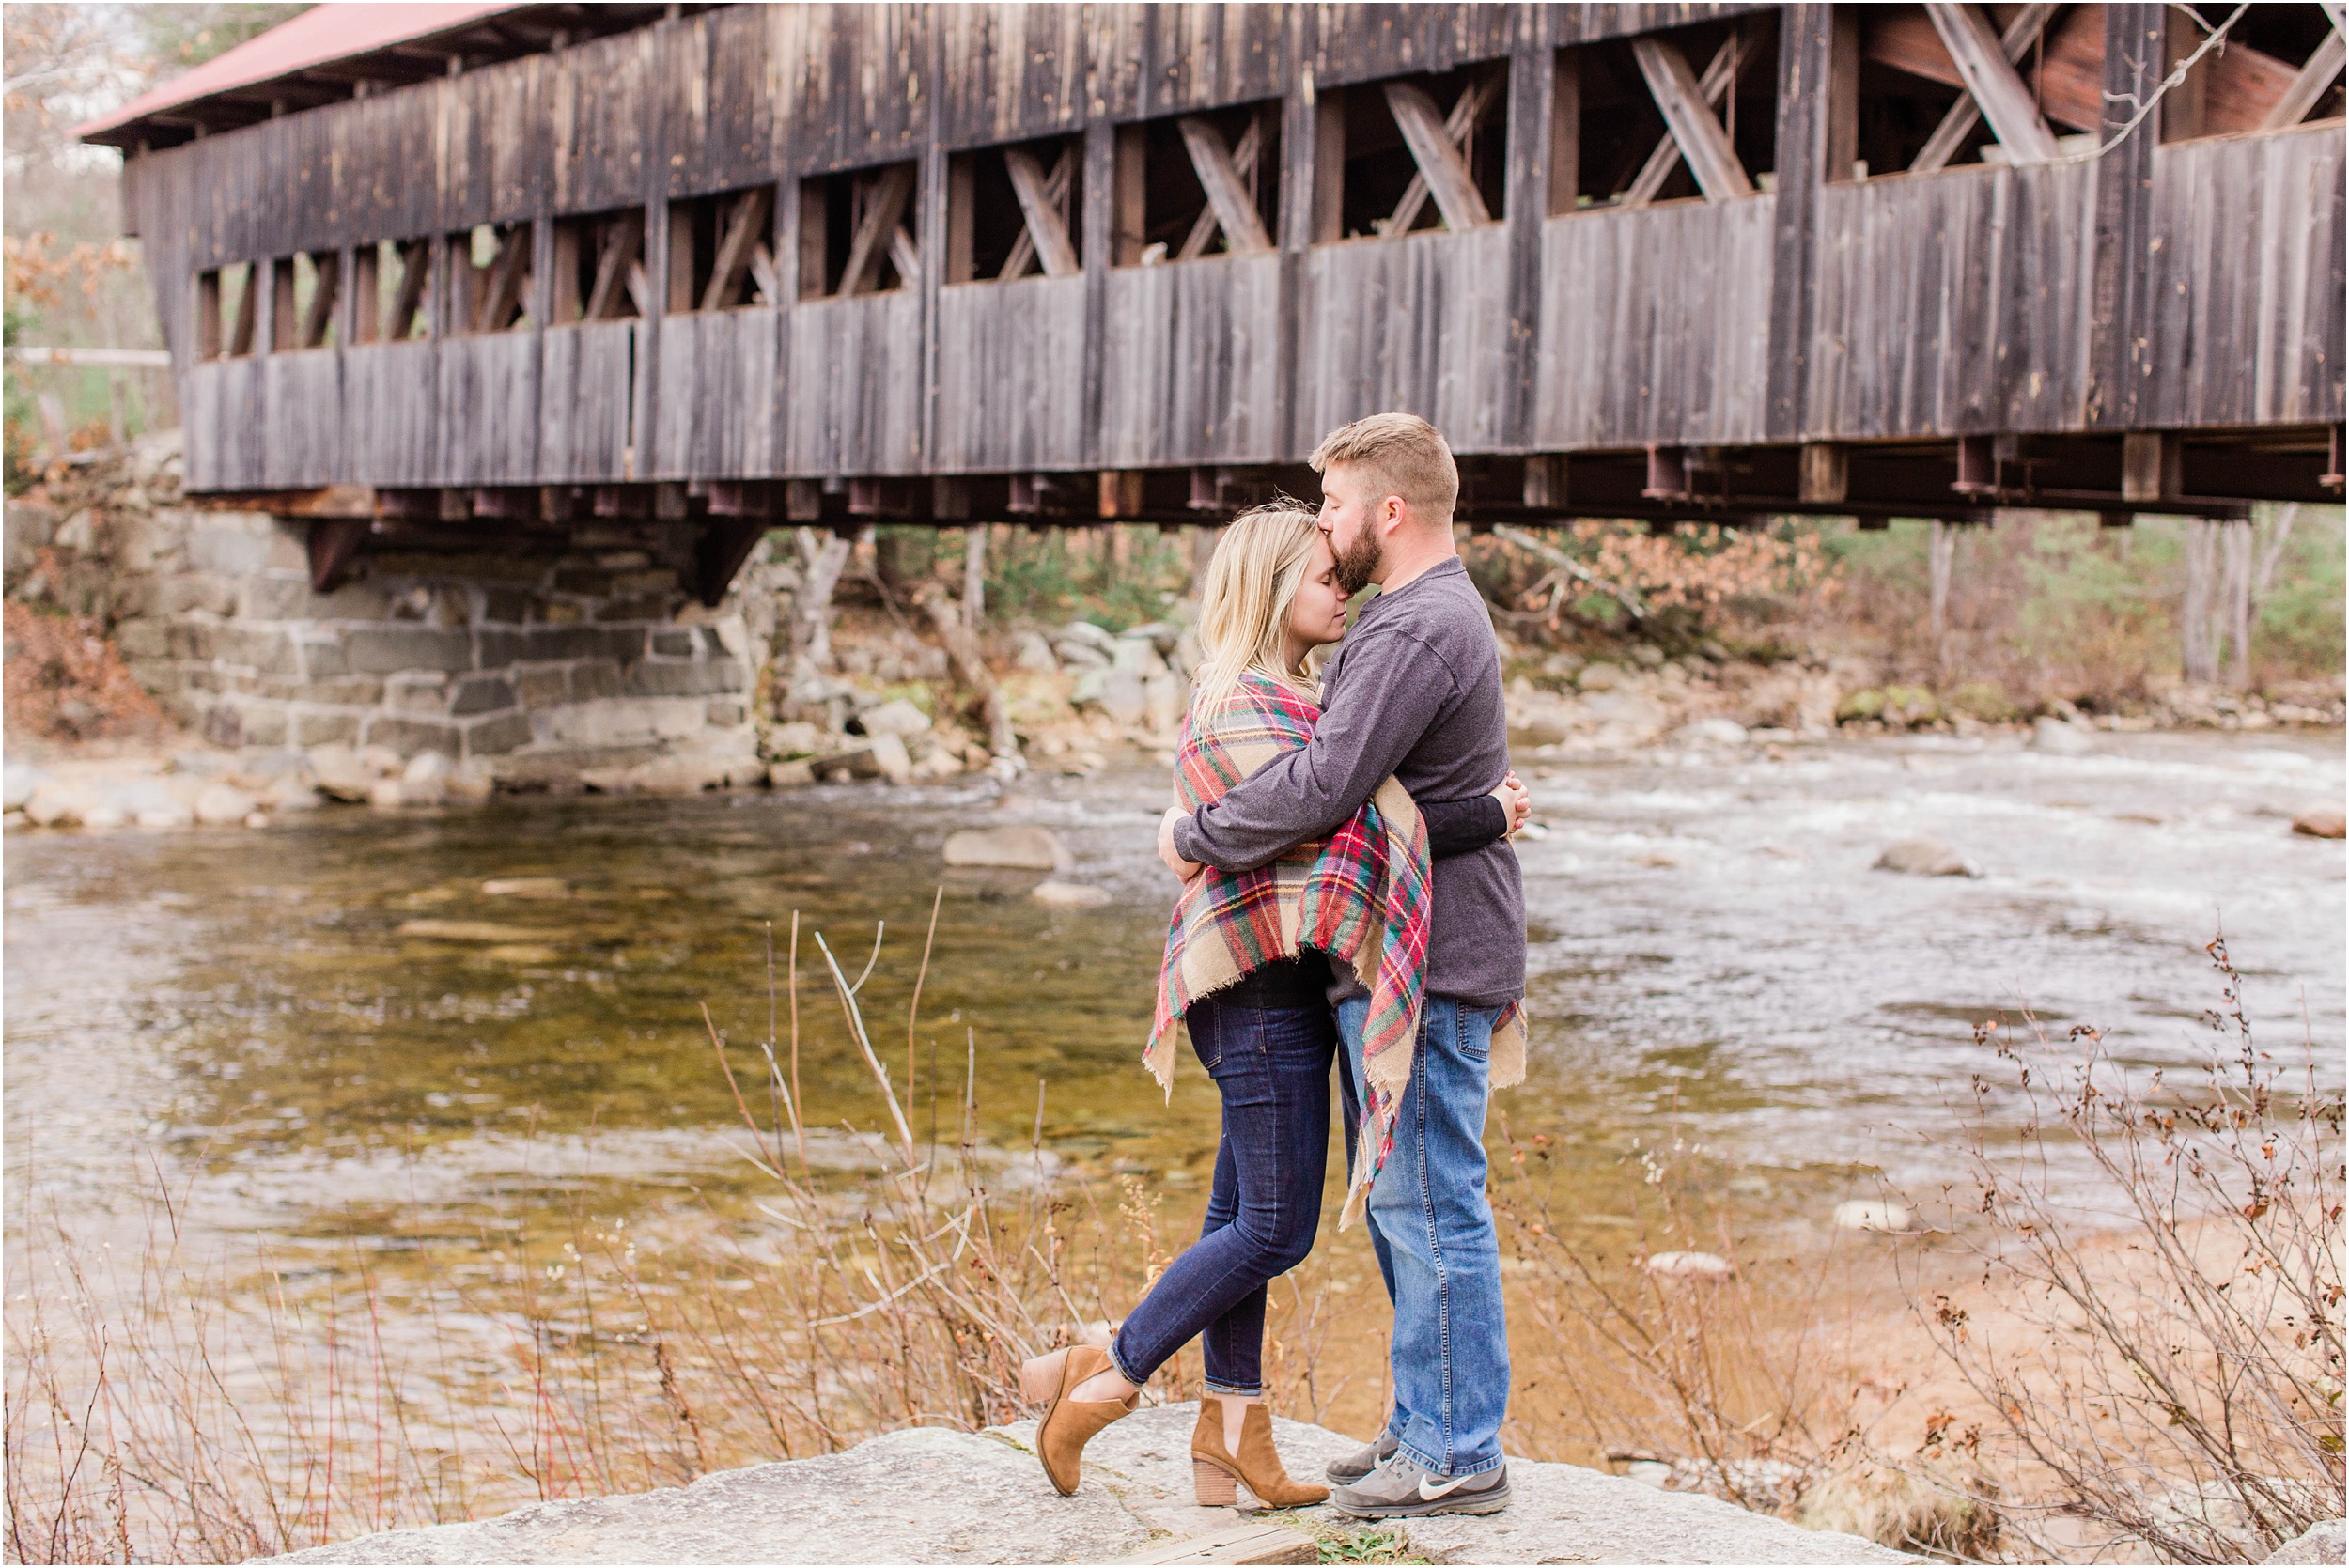
MULTIPOLYGON (((2293 810, 2342 798, 2337 735, 1529 770, 1548 829, 1522 843, 1534 1049, 1499 1106, 1564 1150, 1593 1211, 1635 1138, 1675 1134, 1785 1223, 1872 1195, 1875 1171, 1931 1185, 1950 1157, 1921 1134, 1950 1129, 1987 1066, 1976 1021, 2032 1007, 2105 1028, 2126 1061, 2194 1061, 2220 927, 2264 1042, 2307 1033, 2340 1080, 2342 845, 2288 831, 2293 810), (1983 876, 1872 871, 1910 836, 1983 876)), ((1163 1103, 1137 1066, 1170 897, 1151 854, 1163 793, 1137 763, 1001 800, 853 786, 12 836, 9 1218, 31 1192, 103 1230, 157 1176, 193 1183, 204 1225, 277 1249, 348 1244, 392 1209, 411 1232, 430 1216, 479 1235, 583 1190, 608 1214, 723 1199, 752 1171, 726 1141, 735 1106, 700 1007, 759 1040, 768 922, 785 972, 796 911, 808 1122, 881 1127, 815 934, 855 972, 886 922, 864 1009, 904 1087, 940 845, 972 822, 1055 829, 1113 901, 1055 911, 1024 897, 1034 878, 944 878, 916 1131, 951 1129, 968 1052, 989 1141, 1029 1148, 1041 1089, 1052 1160, 1196 1199, 1212 1087, 1186 1059, 1163 1103), (568 897, 484 890, 512 878, 568 897)))

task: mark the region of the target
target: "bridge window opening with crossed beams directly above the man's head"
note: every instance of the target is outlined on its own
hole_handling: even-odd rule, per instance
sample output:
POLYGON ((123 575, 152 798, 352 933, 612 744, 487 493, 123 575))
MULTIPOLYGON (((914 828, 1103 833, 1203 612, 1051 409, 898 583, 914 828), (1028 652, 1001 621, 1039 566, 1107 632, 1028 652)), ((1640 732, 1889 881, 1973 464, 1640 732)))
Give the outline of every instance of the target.
MULTIPOLYGON (((1499 61, 1442 75, 1395 77, 1332 94, 1322 171, 1339 197, 1322 202, 1315 239, 1478 228, 1503 216, 1508 68, 1499 61)), ((1320 174, 1315 176, 1320 178, 1320 174)))

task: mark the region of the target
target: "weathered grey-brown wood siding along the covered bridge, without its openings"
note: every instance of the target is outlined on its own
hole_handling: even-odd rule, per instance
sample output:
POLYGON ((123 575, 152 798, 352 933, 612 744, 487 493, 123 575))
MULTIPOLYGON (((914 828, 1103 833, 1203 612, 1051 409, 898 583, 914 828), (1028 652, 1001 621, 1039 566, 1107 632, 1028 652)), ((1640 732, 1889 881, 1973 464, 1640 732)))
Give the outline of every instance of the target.
MULTIPOLYGON (((2337 124, 2163 146, 2149 185, 2107 157, 1560 218, 1527 211, 1534 169, 1489 228, 1304 244, 1313 94, 1503 59, 1548 82, 1546 49, 1762 9, 740 5, 139 155, 124 204, 200 491, 1276 462, 1386 408, 1463 453, 2344 415, 2337 124), (944 153, 1095 131, 1097 181, 1099 127, 1236 103, 1283 106, 1271 256, 1104 268, 1090 190, 1083 277, 944 286, 921 232, 888 296, 190 354, 200 268, 895 160, 928 230, 944 153)), ((658 244, 646 268, 660 291, 658 244)))

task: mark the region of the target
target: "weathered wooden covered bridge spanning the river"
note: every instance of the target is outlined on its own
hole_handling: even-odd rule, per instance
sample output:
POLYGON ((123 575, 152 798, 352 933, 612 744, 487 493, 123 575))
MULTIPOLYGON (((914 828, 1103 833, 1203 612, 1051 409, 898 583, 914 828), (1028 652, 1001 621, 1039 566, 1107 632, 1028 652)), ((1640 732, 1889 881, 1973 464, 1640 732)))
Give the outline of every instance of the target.
POLYGON ((1200 521, 2340 500, 2340 5, 329 5, 106 122, 188 486, 1200 521), (2225 38, 2210 42, 2213 28, 2225 38))

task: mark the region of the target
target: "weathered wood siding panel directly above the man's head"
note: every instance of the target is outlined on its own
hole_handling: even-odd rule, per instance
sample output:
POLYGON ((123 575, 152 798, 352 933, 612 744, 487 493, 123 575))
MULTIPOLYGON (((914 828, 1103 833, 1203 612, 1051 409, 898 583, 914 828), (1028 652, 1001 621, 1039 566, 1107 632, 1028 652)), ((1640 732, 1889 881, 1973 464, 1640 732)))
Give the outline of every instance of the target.
POLYGON ((1304 430, 1402 411, 1459 451, 1501 446, 1508 230, 1315 246, 1301 284, 1292 397, 1304 430))

